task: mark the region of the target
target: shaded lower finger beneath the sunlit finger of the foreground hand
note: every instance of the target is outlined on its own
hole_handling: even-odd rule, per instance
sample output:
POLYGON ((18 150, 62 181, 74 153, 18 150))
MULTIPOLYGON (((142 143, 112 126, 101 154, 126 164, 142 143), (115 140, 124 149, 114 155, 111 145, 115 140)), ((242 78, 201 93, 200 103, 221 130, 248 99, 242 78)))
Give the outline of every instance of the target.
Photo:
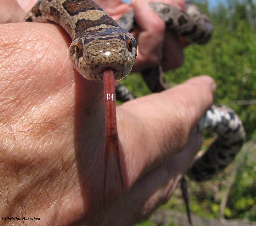
POLYGON ((132 225, 148 217, 160 204, 167 202, 179 184, 181 176, 187 171, 192 155, 200 149, 201 144, 201 136, 194 135, 181 153, 140 178, 118 201, 116 208, 111 212, 112 215, 110 214, 108 224, 112 225, 113 220, 117 225, 123 225, 122 221, 125 219, 127 225, 132 225), (190 155, 190 161, 181 161, 180 157, 186 154, 190 155))

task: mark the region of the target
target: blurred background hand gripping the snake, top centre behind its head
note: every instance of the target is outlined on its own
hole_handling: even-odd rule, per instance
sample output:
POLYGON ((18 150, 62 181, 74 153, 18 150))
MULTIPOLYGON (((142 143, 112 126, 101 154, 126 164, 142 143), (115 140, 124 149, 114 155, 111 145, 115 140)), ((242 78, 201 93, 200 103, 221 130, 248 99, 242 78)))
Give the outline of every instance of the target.
MULTIPOLYGON (((22 1, 23 9, 28 11, 36 0, 22 1)), ((113 19, 118 20, 125 12, 133 9, 139 30, 132 32, 138 44, 138 54, 132 71, 151 68, 161 62, 164 71, 183 64, 183 48, 187 45, 180 37, 165 29, 164 21, 150 7, 152 0, 132 0, 131 5, 121 0, 95 0, 113 19), (149 16, 150 15, 150 16, 149 16)), ((185 9, 185 0, 154 0, 185 9)))

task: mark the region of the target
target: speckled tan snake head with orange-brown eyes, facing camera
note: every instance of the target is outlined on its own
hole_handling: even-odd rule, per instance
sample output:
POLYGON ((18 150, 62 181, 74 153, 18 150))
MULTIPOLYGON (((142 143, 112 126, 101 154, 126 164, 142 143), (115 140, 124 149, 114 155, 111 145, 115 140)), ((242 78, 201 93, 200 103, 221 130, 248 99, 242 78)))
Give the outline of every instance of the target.
POLYGON ((84 78, 102 81, 103 71, 112 68, 115 80, 126 77, 137 55, 137 44, 129 32, 121 27, 85 31, 69 47, 69 57, 84 78))

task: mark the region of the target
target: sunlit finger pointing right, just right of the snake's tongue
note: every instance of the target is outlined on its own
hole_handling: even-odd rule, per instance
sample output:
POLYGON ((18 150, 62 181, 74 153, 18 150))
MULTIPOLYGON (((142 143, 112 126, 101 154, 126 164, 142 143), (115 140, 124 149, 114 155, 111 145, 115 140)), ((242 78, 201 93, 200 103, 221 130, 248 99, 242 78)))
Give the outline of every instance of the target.
POLYGON ((129 153, 121 162, 129 169, 125 175, 129 185, 185 147, 191 131, 212 104, 214 90, 212 78, 199 76, 118 108, 121 153, 129 153))

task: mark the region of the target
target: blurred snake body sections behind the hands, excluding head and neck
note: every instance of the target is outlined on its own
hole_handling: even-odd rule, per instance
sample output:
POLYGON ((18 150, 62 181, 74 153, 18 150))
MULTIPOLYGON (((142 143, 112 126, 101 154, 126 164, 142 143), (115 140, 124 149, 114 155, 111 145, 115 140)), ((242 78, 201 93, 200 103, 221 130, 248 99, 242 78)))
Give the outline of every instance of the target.
MULTIPOLYGON (((210 19, 194 4, 186 5, 186 12, 164 3, 150 3, 153 10, 161 17, 166 28, 174 31, 187 41, 196 44, 207 43, 213 32, 210 19)), ((128 31, 136 27, 134 12, 128 11, 117 23, 128 31)), ((161 92, 170 87, 161 65, 141 72, 142 77, 151 92, 161 92)), ((132 100, 136 96, 125 86, 118 83, 116 98, 122 102, 132 100)), ((199 121, 195 132, 215 132, 218 137, 206 152, 197 157, 188 170, 187 175, 196 181, 211 179, 214 175, 224 170, 233 161, 241 149, 245 132, 243 124, 234 110, 227 106, 213 104, 199 121)))

